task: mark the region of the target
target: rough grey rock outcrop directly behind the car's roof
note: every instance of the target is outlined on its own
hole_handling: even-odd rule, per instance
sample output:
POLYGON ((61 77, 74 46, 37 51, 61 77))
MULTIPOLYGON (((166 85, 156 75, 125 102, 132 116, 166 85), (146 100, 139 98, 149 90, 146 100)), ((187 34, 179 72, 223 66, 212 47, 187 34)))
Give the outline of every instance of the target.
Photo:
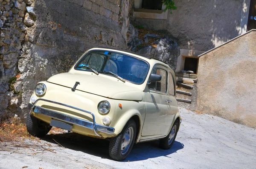
POLYGON ((169 37, 163 37, 157 39, 157 41, 154 42, 154 46, 156 46, 156 48, 148 45, 141 48, 137 53, 157 58, 169 65, 172 70, 175 70, 177 66, 177 58, 180 55, 180 48, 177 42, 169 37))

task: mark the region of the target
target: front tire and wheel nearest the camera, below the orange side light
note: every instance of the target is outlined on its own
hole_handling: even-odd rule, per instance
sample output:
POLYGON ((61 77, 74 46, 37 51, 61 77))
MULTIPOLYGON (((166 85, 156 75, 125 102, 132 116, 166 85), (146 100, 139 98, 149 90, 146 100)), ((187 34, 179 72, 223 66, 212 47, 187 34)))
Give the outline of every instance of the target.
POLYGON ((119 135, 110 138, 109 155, 111 158, 122 161, 129 155, 134 145, 136 131, 136 123, 130 119, 119 135))

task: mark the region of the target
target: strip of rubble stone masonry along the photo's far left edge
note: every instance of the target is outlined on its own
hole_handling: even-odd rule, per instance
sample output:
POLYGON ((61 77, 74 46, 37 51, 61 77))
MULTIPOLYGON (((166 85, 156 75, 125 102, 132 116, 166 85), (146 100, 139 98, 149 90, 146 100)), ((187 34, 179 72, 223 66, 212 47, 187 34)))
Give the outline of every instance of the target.
MULTIPOLYGON (((27 26, 24 25, 26 3, 23 0, 0 0, 0 113, 6 115, 7 107, 17 104, 15 95, 21 91, 14 86, 19 72, 17 63, 23 53, 22 44, 27 26), (10 85, 12 83, 12 86, 10 85)), ((19 75, 18 75, 19 76, 19 75)))

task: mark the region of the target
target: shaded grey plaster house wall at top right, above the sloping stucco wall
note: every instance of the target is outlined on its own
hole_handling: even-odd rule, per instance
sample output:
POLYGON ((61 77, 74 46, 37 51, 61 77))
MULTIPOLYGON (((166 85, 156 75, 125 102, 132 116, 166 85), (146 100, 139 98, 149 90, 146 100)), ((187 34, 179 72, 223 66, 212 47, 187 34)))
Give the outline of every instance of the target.
MULTIPOLYGON (((136 0, 135 0, 136 1, 136 0)), ((134 23, 167 30, 181 49, 208 51, 244 33, 250 0, 174 0, 167 20, 134 18, 134 23)))

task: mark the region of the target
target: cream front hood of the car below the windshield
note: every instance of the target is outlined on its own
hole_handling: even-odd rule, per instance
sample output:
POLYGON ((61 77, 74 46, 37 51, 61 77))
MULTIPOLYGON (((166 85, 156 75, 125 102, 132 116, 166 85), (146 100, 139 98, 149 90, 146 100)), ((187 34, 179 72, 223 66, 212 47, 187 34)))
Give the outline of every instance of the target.
POLYGON ((143 99, 143 91, 127 85, 128 82, 118 81, 115 77, 110 78, 108 75, 60 73, 50 77, 47 82, 70 88, 79 82, 80 85, 77 85, 76 90, 87 93, 119 100, 142 101, 143 99))

